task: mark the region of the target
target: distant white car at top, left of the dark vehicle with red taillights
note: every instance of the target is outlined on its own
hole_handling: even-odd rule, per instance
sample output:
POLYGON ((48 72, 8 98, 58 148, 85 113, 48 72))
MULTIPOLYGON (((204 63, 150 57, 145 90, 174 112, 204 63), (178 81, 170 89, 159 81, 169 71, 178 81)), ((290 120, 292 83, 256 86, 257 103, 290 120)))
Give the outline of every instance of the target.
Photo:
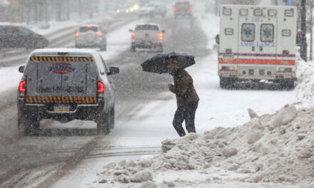
POLYGON ((165 4, 151 2, 146 4, 141 9, 138 10, 138 17, 141 18, 142 16, 163 16, 165 17, 167 14, 167 9, 165 4))

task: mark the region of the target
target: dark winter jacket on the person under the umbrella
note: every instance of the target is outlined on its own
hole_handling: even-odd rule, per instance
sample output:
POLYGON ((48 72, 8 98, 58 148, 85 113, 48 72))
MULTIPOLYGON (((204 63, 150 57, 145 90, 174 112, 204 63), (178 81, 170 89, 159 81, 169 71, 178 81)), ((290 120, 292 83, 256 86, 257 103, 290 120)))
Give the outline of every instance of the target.
POLYGON ((193 79, 183 68, 178 68, 171 73, 173 75, 174 85, 170 90, 176 94, 178 108, 183 105, 197 103, 200 98, 193 85, 193 79))

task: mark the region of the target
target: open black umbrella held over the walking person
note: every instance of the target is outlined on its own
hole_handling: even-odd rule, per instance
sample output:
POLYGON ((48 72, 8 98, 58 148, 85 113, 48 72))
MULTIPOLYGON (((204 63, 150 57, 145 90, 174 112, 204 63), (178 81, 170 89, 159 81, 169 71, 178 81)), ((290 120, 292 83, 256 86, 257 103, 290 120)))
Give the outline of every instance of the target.
POLYGON ((141 63, 143 71, 159 74, 169 73, 169 68, 163 61, 164 58, 176 58, 180 68, 187 68, 195 64, 194 56, 189 56, 186 53, 159 53, 141 63))

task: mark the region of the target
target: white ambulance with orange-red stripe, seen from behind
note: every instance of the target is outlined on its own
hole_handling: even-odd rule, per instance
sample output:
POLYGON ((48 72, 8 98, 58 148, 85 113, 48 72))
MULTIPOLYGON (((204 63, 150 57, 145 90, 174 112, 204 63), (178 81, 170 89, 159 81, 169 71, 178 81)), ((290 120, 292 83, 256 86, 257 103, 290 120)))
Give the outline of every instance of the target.
POLYGON ((220 14, 221 88, 243 80, 294 88, 296 7, 222 5, 220 14))

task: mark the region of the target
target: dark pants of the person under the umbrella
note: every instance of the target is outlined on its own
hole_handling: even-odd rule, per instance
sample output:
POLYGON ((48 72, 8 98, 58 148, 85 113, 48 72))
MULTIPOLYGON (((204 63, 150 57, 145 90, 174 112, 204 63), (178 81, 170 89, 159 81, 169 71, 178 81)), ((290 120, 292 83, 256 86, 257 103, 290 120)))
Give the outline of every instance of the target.
POLYGON ((191 103, 176 110, 173 118, 173 127, 176 129, 179 136, 183 137, 186 135, 182 127, 183 120, 186 121, 186 130, 188 130, 188 132, 196 132, 194 123, 196 108, 198 108, 198 103, 191 103))

